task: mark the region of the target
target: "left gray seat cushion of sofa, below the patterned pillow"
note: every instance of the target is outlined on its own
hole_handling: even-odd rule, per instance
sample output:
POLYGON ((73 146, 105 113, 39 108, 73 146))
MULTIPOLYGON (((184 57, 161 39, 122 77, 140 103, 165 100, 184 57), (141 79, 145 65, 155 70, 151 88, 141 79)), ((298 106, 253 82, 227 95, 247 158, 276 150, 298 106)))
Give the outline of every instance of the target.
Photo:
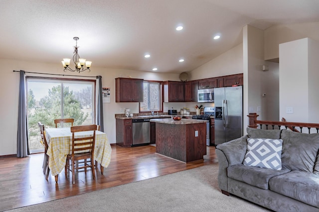
POLYGON ((227 176, 260 189, 268 189, 272 177, 290 172, 289 169, 273 170, 236 164, 227 168, 227 176))

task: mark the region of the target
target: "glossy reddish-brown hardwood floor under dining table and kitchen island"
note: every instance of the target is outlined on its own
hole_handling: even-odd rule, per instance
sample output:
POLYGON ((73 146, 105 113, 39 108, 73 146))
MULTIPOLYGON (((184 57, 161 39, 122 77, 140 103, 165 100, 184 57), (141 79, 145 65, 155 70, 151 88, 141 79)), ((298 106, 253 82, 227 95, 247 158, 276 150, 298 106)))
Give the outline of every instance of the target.
MULTIPOLYGON (((104 168, 95 168, 96 179, 89 170, 76 173, 72 184, 72 173, 65 178, 64 170, 58 183, 49 174, 48 180, 42 173, 43 153, 25 158, 0 158, 0 211, 34 205, 51 200, 79 195, 91 191, 150 179, 174 172, 216 163, 215 147, 207 147, 204 160, 183 163, 155 153, 156 147, 140 146, 122 148, 112 145, 111 163, 104 168)), ((100 164, 99 164, 100 166, 100 164)))

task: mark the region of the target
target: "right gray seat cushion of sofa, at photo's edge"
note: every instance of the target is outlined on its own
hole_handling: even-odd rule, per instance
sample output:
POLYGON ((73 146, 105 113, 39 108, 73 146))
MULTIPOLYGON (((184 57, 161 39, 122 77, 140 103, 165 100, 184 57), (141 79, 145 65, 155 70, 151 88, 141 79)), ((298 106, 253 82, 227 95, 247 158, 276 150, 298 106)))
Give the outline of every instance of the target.
POLYGON ((311 172, 291 171, 273 177, 269 190, 319 208, 319 176, 311 172))

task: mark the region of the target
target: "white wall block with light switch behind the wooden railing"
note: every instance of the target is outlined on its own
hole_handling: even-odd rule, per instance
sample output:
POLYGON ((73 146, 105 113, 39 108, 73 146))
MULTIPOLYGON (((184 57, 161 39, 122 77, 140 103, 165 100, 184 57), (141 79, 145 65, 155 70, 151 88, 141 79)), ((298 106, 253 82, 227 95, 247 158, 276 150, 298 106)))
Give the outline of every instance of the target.
POLYGON ((279 45, 280 116, 287 121, 319 122, 318 55, 319 42, 310 38, 279 45))

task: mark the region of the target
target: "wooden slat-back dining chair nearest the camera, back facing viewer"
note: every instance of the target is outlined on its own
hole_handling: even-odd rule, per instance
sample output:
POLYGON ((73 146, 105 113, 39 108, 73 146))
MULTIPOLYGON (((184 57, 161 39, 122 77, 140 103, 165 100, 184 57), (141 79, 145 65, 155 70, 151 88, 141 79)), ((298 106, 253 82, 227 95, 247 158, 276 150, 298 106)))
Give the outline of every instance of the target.
POLYGON ((95 144, 95 131, 97 130, 97 125, 82 125, 82 126, 71 126, 72 132, 72 151, 71 154, 67 155, 65 164, 65 177, 67 177, 67 171, 72 172, 72 183, 75 184, 75 170, 83 169, 85 170, 90 167, 92 169, 93 179, 95 180, 95 170, 94 170, 94 144, 95 144), (93 131, 93 135, 86 137, 75 137, 75 132, 83 131, 93 131), (90 159, 90 161, 87 161, 90 159), (84 160, 85 162, 76 166, 76 161, 84 160), (81 165, 81 166, 80 166, 81 165))

